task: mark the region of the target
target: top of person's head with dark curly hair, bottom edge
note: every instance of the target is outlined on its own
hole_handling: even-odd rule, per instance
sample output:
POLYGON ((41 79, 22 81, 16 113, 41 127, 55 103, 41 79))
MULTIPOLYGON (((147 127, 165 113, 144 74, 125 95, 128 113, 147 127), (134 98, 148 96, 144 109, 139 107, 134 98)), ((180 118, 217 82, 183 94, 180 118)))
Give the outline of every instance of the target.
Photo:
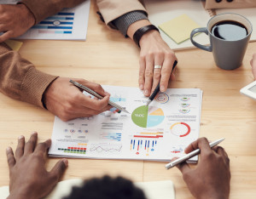
POLYGON ((131 180, 122 177, 88 179, 84 185, 73 187, 71 194, 63 199, 146 199, 143 190, 131 180))

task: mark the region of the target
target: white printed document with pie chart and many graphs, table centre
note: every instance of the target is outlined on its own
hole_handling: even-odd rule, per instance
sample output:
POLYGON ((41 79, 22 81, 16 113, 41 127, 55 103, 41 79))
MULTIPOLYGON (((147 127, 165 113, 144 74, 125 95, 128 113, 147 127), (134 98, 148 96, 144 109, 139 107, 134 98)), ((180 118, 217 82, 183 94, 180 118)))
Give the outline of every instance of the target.
POLYGON ((105 111, 69 122, 55 117, 49 156, 170 161, 198 139, 201 89, 167 89, 148 107, 139 88, 103 88, 131 114, 105 111))

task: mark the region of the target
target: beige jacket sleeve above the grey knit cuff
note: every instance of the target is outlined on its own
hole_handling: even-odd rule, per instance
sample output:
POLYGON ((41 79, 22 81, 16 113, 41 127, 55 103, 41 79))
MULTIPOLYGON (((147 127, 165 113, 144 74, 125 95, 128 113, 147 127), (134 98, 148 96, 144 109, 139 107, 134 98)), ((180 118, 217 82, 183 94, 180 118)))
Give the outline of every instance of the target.
POLYGON ((107 25, 131 11, 141 10, 147 13, 139 0, 96 0, 96 3, 107 25))

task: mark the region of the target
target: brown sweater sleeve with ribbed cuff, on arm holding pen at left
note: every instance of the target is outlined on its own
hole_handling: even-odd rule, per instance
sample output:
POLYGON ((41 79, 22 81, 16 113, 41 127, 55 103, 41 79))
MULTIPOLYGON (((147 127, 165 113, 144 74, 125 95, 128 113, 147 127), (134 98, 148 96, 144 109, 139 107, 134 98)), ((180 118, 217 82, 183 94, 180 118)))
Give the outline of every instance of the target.
POLYGON ((5 43, 0 43, 0 63, 0 92, 43 108, 44 91, 57 77, 38 71, 5 43))

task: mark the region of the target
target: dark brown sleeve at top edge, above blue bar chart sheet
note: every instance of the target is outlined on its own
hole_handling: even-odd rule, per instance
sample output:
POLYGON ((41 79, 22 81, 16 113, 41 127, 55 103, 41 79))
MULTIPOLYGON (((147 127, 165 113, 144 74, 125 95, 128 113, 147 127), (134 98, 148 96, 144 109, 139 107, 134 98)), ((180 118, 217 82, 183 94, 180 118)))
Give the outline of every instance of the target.
POLYGON ((28 9, 31 10, 36 19, 36 24, 41 20, 56 14, 64 8, 73 8, 85 0, 22 0, 28 9))

